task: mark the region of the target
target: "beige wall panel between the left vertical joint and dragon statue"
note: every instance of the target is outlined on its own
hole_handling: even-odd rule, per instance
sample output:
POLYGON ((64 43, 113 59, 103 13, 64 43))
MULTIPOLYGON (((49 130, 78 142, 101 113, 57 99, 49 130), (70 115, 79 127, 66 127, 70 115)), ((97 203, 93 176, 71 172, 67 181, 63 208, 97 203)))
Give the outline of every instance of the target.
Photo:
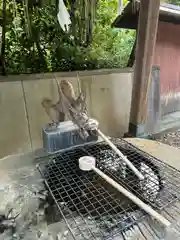
POLYGON ((54 83, 54 79, 23 81, 32 149, 42 145, 41 128, 49 122, 49 118, 41 106, 41 101, 44 97, 56 101, 54 83))

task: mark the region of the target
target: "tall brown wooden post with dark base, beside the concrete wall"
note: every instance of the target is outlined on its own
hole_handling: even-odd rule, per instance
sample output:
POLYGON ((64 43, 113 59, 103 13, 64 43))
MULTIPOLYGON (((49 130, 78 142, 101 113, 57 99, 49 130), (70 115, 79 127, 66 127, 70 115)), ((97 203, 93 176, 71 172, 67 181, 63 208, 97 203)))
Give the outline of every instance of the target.
POLYGON ((159 20, 160 0, 141 0, 129 133, 143 134, 147 116, 147 99, 159 20))

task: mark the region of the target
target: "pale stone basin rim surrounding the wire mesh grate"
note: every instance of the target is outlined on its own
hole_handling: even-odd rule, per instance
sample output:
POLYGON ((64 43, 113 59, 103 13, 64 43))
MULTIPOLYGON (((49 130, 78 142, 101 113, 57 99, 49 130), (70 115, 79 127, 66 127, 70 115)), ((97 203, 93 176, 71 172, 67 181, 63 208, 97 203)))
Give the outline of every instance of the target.
MULTIPOLYGON (((172 165, 179 168, 179 166, 175 166, 175 163, 179 164, 177 158, 180 156, 180 150, 176 151, 172 147, 167 150, 167 146, 163 144, 147 142, 143 139, 130 139, 129 141, 165 161, 168 158, 168 152, 168 159, 171 159, 172 165)), ((0 240, 73 239, 55 205, 49 206, 47 203, 47 192, 41 175, 36 169, 38 163, 32 153, 11 155, 0 159, 0 213, 14 219, 13 224, 15 225, 5 231, 0 228, 0 240)), ((171 164, 171 162, 168 163, 171 164)), ((118 236, 113 240, 180 239, 179 236, 174 237, 171 234, 170 238, 165 238, 165 236, 167 235, 164 229, 151 218, 147 218, 143 223, 139 223, 133 231, 124 234, 123 238, 118 236)))

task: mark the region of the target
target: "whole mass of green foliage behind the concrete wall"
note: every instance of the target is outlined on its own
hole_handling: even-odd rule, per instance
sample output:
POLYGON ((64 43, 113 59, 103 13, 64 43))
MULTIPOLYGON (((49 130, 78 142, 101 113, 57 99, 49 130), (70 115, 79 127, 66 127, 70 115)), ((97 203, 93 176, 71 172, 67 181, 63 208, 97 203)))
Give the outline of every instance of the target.
MULTIPOLYGON (((117 0, 99 0, 92 42, 84 45, 72 28, 64 33, 57 22, 55 5, 29 11, 29 23, 22 4, 12 11, 6 32, 8 73, 73 71, 125 67, 135 33, 111 28, 117 16, 117 0)), ((82 20, 83 21, 83 20, 82 20)), ((84 23, 80 23, 79 27, 84 23)))

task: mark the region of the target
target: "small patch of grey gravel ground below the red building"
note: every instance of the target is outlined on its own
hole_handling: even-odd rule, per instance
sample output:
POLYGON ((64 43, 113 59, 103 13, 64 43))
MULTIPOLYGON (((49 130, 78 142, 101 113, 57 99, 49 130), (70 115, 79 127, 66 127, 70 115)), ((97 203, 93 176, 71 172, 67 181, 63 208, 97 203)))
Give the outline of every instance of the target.
POLYGON ((156 141, 180 148, 180 129, 165 133, 159 139, 156 139, 156 141))

